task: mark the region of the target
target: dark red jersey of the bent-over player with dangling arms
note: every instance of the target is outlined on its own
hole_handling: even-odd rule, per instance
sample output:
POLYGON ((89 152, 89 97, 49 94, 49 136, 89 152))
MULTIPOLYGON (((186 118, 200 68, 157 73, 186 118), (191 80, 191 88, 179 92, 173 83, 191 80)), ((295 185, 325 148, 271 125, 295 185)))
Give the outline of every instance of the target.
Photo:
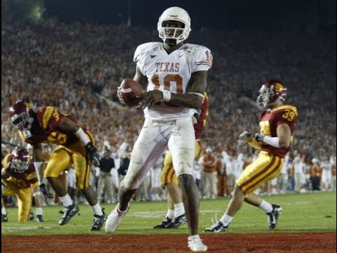
MULTIPOLYGON (((70 115, 63 115, 51 106, 44 106, 37 110, 37 124, 33 125, 31 132, 32 136, 25 138, 20 131, 20 138, 27 143, 53 143, 56 145, 70 146, 78 141, 74 134, 67 134, 58 129, 62 117, 67 117, 76 123, 76 119, 70 115)), ((87 135, 88 131, 84 129, 87 135)), ((93 138, 91 138, 93 141, 93 138)))

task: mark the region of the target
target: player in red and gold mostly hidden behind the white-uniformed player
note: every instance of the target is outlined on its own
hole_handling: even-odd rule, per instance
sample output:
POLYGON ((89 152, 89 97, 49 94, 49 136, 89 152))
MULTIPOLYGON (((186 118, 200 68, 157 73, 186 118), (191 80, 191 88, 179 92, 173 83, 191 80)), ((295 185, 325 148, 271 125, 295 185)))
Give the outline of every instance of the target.
MULTIPOLYGON (((194 159, 200 155, 200 136, 206 125, 206 117, 209 115, 209 97, 204 93, 204 100, 200 109, 194 114, 195 153, 194 159)), ((178 178, 172 164, 171 152, 167 153, 164 167, 161 171, 160 181, 167 190, 167 205, 169 207, 166 217, 153 228, 177 228, 186 223, 185 209, 178 187, 178 178)))

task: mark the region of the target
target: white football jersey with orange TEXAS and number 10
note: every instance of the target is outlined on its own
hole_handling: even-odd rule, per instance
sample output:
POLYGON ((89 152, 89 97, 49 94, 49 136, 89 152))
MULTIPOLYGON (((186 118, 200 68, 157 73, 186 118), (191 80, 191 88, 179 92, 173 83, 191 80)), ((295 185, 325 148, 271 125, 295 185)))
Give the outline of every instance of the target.
MULTIPOLYGON (((209 48, 195 44, 183 44, 168 54, 161 42, 149 42, 136 48, 133 60, 139 70, 147 77, 147 91, 167 90, 171 93, 185 94, 191 74, 207 71, 212 66, 213 57, 209 48)), ((191 108, 183 108, 167 102, 145 108, 145 117, 171 121, 190 116, 191 108)))

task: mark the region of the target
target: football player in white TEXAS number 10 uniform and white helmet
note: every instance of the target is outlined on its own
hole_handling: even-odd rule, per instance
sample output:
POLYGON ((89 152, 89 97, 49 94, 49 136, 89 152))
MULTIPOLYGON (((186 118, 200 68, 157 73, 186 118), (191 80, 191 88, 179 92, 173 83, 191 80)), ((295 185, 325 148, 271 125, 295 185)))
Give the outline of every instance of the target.
POLYGON ((183 44, 190 31, 188 13, 171 7, 158 22, 159 37, 164 43, 150 42, 136 48, 133 79, 147 91, 141 102, 145 122, 120 184, 119 204, 108 217, 105 231, 112 233, 117 229, 131 197, 167 145, 183 193, 191 235, 188 247, 192 251, 206 251, 198 235, 199 191, 192 176, 195 137, 190 111, 199 109, 204 98, 212 55, 204 46, 183 44))

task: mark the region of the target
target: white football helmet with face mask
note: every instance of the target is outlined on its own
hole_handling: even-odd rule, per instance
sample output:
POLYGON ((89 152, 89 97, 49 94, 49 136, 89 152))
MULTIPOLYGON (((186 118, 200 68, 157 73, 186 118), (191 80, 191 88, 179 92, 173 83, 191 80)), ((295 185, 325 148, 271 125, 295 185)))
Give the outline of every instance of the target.
POLYGON ((179 7, 171 7, 164 11, 159 17, 157 29, 159 37, 166 43, 167 39, 176 40, 176 44, 187 39, 191 32, 191 19, 187 11, 179 7), (166 21, 178 21, 183 23, 183 27, 165 27, 166 21), (173 35, 169 30, 174 30, 173 35))

